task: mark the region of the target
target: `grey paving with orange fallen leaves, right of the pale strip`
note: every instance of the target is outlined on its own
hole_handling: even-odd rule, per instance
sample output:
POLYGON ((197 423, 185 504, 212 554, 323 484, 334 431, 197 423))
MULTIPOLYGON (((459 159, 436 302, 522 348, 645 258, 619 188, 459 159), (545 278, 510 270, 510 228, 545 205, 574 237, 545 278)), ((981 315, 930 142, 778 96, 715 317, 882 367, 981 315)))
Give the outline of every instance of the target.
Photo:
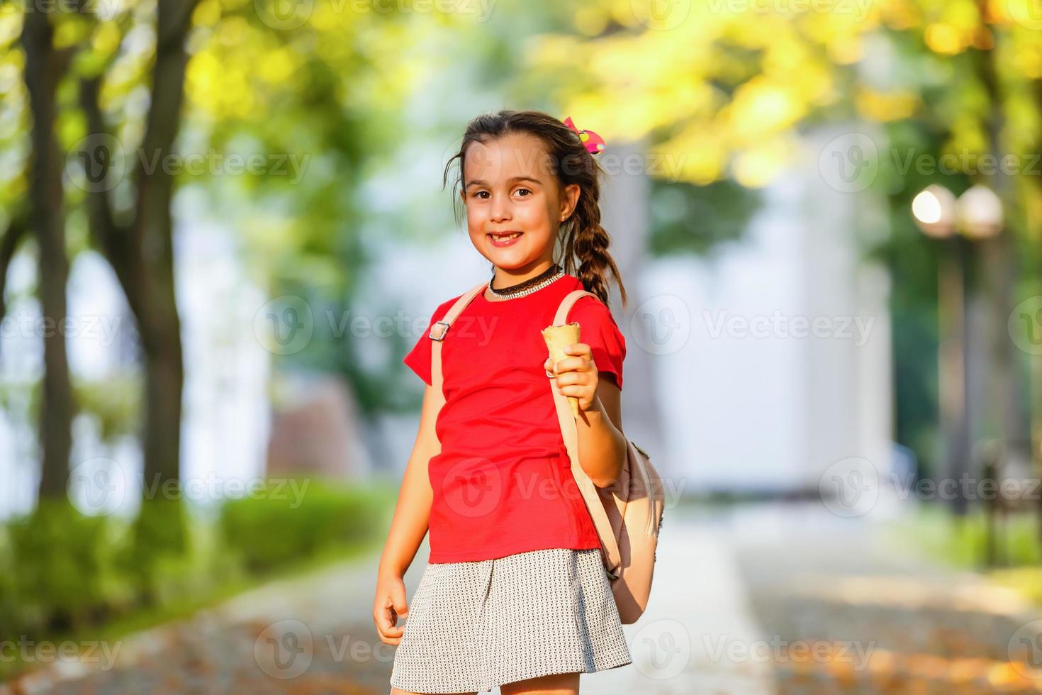
POLYGON ((879 522, 758 505, 724 532, 771 636, 778 692, 1042 692, 1042 613, 895 546, 879 522))

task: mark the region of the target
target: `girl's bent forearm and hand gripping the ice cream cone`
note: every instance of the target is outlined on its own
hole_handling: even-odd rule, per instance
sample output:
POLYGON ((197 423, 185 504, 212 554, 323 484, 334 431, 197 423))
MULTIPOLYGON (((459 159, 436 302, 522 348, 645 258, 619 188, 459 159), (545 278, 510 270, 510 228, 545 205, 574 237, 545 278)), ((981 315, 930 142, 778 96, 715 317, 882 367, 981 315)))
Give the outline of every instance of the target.
MULTIPOLYGON (((619 387, 599 378, 593 353, 586 343, 576 343, 565 350, 566 357, 555 366, 557 386, 565 396, 579 401, 579 417, 575 420, 578 436, 579 466, 598 488, 606 488, 618 479, 626 458, 626 436, 622 432, 619 387)), ((554 369, 547 358, 544 367, 554 369)))

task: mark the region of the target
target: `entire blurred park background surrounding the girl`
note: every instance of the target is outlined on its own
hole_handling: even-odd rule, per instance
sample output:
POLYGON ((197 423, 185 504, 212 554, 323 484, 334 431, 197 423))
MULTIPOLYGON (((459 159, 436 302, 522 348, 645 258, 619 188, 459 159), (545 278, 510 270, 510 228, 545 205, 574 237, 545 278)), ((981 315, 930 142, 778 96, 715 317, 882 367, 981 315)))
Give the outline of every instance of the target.
MULTIPOLYGON (((0 694, 386 693, 443 169, 607 142, 622 693, 1042 691, 1037 0, 0 2, 0 694)), ((427 557, 421 548, 410 596, 427 557)), ((498 690, 498 689, 497 689, 498 690)))

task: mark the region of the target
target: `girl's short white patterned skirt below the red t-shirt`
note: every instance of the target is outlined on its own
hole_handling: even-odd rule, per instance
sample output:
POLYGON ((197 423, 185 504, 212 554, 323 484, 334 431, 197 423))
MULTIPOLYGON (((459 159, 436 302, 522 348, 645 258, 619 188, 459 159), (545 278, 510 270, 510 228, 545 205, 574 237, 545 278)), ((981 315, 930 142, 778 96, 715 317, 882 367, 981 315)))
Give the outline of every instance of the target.
POLYGON ((428 563, 408 604, 391 685, 485 692, 631 663, 600 549, 549 548, 428 563))

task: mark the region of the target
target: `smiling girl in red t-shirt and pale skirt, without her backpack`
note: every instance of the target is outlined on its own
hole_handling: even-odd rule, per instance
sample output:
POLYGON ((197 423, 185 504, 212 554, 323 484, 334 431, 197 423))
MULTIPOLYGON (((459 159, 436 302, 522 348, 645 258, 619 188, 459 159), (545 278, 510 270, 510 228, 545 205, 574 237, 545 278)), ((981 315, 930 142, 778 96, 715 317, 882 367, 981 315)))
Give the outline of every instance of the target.
POLYGON ((444 181, 458 159, 470 240, 493 274, 443 337, 442 393, 429 333, 463 295, 438 306, 404 359, 427 388, 373 605, 380 640, 398 645, 392 695, 578 693, 579 673, 631 663, 547 382, 578 399, 580 465, 611 485, 626 455, 626 347, 607 271, 623 306, 626 293, 600 226, 597 141, 570 119, 501 110, 471 121, 446 166, 444 181), (577 289, 601 301, 575 302, 581 342, 552 364, 540 330, 577 289), (402 577, 428 527, 410 605, 402 577))

